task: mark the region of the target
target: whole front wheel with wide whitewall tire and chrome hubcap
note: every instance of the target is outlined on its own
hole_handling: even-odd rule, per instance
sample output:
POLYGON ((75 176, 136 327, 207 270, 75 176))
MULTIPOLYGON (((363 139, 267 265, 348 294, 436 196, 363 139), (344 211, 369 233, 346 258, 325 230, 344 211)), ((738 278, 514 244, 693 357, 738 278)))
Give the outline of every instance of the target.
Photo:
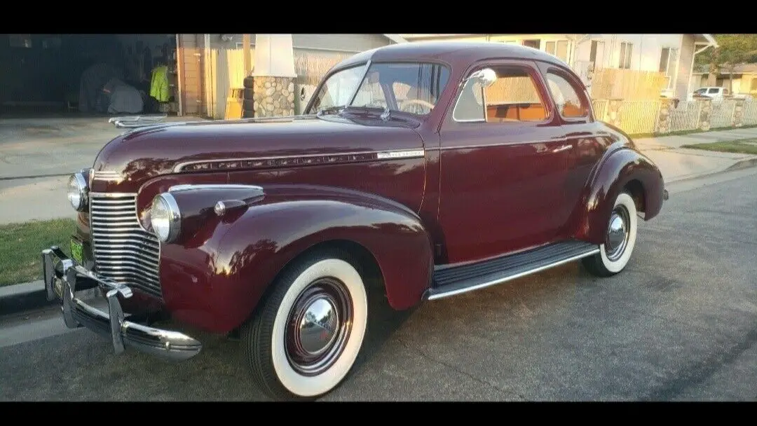
POLYGON ((346 253, 311 253, 273 283, 241 330, 254 379, 274 399, 312 400, 337 387, 363 345, 368 298, 346 253))

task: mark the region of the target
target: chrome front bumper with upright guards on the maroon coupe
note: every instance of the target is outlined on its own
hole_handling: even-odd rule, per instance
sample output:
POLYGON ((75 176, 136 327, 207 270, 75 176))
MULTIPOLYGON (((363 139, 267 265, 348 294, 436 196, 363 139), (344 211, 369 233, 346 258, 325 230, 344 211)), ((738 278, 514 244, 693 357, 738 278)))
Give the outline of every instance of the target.
POLYGON ((110 337, 116 353, 124 345, 167 359, 183 360, 200 353, 202 344, 186 334, 161 330, 126 321, 118 295, 132 297, 126 285, 101 277, 69 259, 58 247, 42 250, 42 273, 48 300, 61 300, 64 323, 68 328, 85 326, 110 337), (100 288, 107 300, 107 313, 76 298, 76 291, 100 288))

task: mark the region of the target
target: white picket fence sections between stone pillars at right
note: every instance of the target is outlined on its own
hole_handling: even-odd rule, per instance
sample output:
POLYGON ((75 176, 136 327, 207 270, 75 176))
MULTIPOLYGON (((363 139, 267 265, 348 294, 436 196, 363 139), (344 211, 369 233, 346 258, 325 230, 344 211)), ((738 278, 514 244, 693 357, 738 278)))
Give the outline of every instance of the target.
MULTIPOLYGON (((681 132, 699 129, 699 113, 702 101, 682 101, 672 107, 669 117, 669 131, 681 132)), ((710 128, 734 126, 737 101, 727 99, 712 101, 709 115, 710 128)), ((597 120, 609 121, 609 101, 594 99, 592 101, 594 117, 597 120)), ((621 101, 618 114, 619 127, 629 134, 654 133, 658 130, 659 113, 662 101, 621 101)), ((757 101, 743 103, 743 126, 757 125, 757 101)))

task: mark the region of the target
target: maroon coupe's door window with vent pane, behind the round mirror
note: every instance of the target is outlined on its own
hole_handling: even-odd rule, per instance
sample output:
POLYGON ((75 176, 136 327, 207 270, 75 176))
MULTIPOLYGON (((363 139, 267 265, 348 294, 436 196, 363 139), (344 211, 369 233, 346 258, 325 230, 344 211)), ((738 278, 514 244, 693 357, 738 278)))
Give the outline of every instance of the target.
POLYGON ((485 89, 469 80, 452 113, 458 122, 538 122, 547 119, 544 101, 524 67, 492 67, 497 80, 485 89))

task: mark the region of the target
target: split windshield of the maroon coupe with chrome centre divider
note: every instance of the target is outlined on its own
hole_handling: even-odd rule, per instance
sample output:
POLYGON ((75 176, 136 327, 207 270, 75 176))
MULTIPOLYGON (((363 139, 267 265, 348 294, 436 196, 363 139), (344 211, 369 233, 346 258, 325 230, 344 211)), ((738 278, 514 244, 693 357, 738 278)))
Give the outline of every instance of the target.
POLYGON ((307 113, 351 106, 425 115, 436 106, 449 78, 450 70, 439 64, 376 63, 367 73, 363 64, 330 76, 307 113))

